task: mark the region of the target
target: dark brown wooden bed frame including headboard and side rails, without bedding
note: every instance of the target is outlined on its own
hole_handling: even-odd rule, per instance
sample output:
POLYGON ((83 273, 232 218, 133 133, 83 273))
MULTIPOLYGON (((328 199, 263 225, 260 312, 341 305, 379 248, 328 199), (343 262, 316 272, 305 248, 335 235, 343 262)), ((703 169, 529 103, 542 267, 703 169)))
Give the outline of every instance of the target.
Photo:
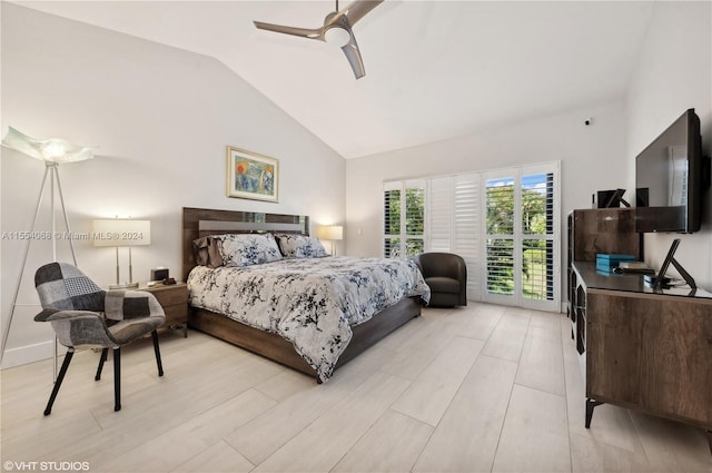
MULTIPOLYGON (((228 233, 294 233, 309 235, 309 218, 298 215, 257 214, 184 207, 182 209, 182 280, 196 266, 192 242, 206 235, 228 233)), ((406 297, 353 327, 354 336, 339 357, 343 366, 409 319, 421 315, 419 297, 406 297)), ((297 371, 319 377, 299 356, 290 342, 277 334, 263 332, 210 311, 191 307, 188 325, 241 348, 263 355, 297 371)))

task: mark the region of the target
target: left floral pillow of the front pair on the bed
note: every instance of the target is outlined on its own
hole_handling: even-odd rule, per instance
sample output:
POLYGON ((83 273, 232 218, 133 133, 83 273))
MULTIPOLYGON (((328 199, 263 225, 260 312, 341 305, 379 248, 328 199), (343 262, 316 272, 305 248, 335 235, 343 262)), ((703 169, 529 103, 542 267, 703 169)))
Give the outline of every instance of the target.
POLYGON ((271 234, 230 234, 215 238, 220 242, 224 266, 251 266, 281 259, 271 234))

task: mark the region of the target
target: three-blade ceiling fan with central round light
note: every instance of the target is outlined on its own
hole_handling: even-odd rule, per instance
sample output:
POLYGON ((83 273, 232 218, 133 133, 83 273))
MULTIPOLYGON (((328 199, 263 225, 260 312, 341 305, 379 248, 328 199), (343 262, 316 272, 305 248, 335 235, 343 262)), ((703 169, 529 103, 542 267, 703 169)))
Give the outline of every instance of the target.
POLYGON ((366 71, 364 70, 364 61, 360 58, 360 51, 352 27, 370 10, 378 7, 380 2, 383 0, 355 0, 345 9, 339 10, 338 0, 336 0, 336 11, 327 14, 324 19, 324 26, 316 29, 284 27, 281 24, 263 23, 261 21, 255 21, 254 23, 260 30, 318 39, 319 41, 339 46, 352 65, 356 79, 360 79, 366 75, 366 71))

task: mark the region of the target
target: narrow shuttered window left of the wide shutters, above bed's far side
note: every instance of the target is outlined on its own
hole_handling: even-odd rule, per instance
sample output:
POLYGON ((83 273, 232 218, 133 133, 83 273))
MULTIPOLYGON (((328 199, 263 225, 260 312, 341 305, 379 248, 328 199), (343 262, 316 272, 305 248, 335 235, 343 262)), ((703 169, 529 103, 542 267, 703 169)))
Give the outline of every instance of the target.
POLYGON ((384 246, 386 258, 408 258, 425 250, 425 181, 384 185, 384 246))

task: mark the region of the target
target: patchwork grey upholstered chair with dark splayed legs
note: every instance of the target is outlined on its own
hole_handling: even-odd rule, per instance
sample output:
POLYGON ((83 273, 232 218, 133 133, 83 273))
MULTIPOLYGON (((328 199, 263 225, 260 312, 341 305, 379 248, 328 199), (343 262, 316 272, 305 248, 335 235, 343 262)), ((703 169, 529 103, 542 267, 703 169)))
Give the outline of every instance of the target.
POLYGON ((121 410, 121 346, 150 333, 158 375, 164 375, 156 328, 166 316, 152 294, 102 290, 77 267, 67 263, 50 263, 40 267, 34 274, 34 287, 43 309, 34 316, 34 321, 51 323, 57 339, 67 347, 44 415, 52 411, 69 363, 78 348, 101 348, 96 381, 101 378, 109 348, 113 351, 115 411, 121 410))

